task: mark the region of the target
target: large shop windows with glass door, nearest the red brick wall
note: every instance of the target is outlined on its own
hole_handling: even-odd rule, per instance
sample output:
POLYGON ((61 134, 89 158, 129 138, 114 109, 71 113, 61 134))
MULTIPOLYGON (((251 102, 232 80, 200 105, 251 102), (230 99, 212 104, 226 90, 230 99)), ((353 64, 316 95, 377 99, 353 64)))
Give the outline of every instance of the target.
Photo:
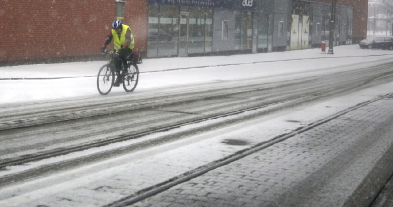
POLYGON ((213 9, 149 5, 148 57, 213 51, 213 9))

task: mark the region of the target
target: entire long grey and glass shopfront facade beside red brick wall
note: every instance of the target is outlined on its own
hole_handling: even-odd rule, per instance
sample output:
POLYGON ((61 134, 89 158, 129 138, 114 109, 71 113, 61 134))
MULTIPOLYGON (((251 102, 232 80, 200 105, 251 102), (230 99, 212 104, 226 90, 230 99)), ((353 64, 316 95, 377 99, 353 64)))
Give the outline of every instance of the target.
MULTIPOLYGON (((337 42, 349 43, 353 10, 337 6, 337 42)), ((330 9, 302 0, 149 0, 147 57, 317 47, 330 9)))

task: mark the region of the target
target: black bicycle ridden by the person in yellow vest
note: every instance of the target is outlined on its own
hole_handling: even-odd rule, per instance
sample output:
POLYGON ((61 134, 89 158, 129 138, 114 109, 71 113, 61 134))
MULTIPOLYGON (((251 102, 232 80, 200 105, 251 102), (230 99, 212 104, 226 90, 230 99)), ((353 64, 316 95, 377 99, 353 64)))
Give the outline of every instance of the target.
MULTIPOLYGON (((101 95, 107 95, 112 90, 118 76, 115 71, 114 62, 119 58, 119 54, 115 51, 106 50, 105 55, 107 56, 108 63, 101 67, 97 75, 97 89, 101 95)), ((131 58, 127 60, 127 69, 125 69, 124 64, 121 64, 121 70, 119 71, 121 75, 120 80, 126 92, 132 92, 136 88, 139 79, 139 68, 137 64, 141 63, 142 59, 140 55, 134 52, 131 58)))

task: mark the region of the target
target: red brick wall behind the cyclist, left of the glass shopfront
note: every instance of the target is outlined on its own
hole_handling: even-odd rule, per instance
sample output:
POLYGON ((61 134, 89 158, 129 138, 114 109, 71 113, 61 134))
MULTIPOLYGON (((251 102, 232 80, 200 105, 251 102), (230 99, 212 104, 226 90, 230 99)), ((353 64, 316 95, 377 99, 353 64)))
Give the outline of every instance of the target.
MULTIPOLYGON (((125 24, 146 51, 147 1, 126 1, 125 24)), ((98 54, 115 8, 114 0, 0 0, 0 61, 98 54)))

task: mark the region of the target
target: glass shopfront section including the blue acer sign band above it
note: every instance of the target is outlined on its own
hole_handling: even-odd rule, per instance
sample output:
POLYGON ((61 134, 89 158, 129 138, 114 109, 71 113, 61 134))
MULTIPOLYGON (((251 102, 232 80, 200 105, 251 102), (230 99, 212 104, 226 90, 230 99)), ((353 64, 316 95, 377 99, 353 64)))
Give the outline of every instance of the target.
POLYGON ((251 49, 252 11, 256 9, 253 2, 256 1, 149 0, 147 56, 182 57, 221 51, 220 46, 214 48, 215 38, 216 42, 226 40, 221 44, 230 44, 230 50, 251 49), (226 18, 217 11, 231 13, 235 18, 226 18))

